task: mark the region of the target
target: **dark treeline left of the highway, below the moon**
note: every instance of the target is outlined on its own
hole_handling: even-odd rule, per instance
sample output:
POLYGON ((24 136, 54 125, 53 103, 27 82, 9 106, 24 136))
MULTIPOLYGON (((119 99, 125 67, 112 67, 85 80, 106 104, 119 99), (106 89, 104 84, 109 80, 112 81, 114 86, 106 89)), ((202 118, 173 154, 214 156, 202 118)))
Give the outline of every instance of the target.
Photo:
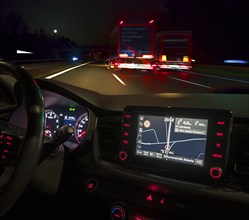
POLYGON ((12 12, 0 17, 0 58, 16 59, 51 59, 63 58, 61 51, 77 47, 76 43, 58 34, 49 35, 43 28, 30 33, 21 14, 12 12), (17 50, 33 54, 20 55, 17 50))

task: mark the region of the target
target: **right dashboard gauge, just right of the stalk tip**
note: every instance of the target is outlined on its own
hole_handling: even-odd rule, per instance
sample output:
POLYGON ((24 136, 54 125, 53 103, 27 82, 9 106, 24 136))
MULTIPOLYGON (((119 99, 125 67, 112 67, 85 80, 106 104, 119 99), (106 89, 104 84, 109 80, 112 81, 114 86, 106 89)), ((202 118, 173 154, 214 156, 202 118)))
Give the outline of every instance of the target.
POLYGON ((75 124, 74 132, 75 132, 75 138, 78 143, 81 143, 82 140, 84 139, 87 132, 87 127, 88 127, 88 114, 84 113, 78 118, 75 124))

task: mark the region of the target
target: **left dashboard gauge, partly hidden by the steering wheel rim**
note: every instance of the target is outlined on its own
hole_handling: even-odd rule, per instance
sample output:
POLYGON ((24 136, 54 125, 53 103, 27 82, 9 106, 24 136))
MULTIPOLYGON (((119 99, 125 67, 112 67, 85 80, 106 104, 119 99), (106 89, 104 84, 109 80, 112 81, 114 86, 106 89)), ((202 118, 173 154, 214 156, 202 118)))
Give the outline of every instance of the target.
POLYGON ((52 110, 45 111, 45 136, 53 137, 54 133, 59 128, 59 117, 52 110))

